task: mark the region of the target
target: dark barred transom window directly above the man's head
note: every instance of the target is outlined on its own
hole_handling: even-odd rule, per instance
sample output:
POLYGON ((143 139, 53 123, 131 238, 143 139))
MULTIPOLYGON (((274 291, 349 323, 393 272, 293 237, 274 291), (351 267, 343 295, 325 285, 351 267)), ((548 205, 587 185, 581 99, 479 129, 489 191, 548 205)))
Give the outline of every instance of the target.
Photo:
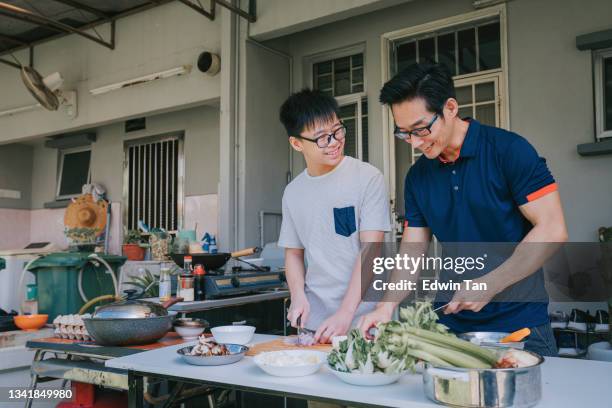
POLYGON ((501 68, 499 19, 434 31, 393 45, 395 72, 423 62, 440 63, 453 76, 501 68))

